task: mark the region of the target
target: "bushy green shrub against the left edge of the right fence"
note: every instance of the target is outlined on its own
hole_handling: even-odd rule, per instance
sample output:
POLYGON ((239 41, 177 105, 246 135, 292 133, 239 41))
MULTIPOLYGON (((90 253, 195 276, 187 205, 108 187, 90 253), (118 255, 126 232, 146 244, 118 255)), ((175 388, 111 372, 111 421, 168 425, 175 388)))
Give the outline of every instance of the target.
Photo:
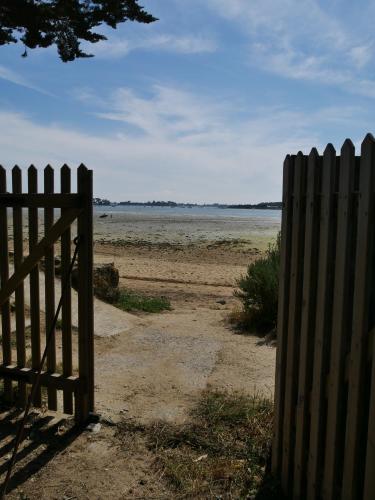
POLYGON ((238 282, 236 297, 242 301, 246 328, 267 332, 276 327, 280 269, 280 233, 265 257, 252 262, 238 282))

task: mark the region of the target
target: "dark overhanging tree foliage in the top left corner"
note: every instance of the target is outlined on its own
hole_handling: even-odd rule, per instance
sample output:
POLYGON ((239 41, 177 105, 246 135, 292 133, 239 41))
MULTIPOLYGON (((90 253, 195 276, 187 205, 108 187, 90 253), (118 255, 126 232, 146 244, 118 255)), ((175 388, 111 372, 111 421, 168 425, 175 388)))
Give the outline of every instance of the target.
POLYGON ((0 45, 22 42, 35 49, 56 44, 60 58, 68 62, 92 57, 81 50, 81 41, 106 40, 93 28, 116 28, 128 20, 152 23, 157 19, 138 0, 0 0, 0 45))

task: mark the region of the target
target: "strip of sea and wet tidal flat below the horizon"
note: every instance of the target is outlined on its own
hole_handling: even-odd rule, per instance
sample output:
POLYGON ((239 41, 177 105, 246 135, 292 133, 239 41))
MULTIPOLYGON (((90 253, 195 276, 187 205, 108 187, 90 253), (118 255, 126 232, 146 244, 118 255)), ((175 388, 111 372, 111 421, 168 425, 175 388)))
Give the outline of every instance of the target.
POLYGON ((280 210, 101 206, 95 207, 94 235, 98 240, 178 244, 256 240, 258 246, 274 238, 280 224, 280 210))

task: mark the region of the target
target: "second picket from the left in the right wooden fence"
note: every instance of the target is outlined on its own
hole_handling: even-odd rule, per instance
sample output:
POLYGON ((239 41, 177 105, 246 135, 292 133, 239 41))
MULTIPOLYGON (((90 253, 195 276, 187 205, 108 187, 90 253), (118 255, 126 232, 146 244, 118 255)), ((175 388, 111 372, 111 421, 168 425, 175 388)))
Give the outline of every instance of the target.
POLYGON ((303 254, 305 236, 306 163, 300 152, 295 160, 293 228, 291 245, 291 277, 289 295, 289 321, 286 351, 285 406, 283 422, 283 456, 281 483, 286 495, 293 484, 293 458, 295 445, 295 410, 298 393, 298 355, 300 342, 303 254))

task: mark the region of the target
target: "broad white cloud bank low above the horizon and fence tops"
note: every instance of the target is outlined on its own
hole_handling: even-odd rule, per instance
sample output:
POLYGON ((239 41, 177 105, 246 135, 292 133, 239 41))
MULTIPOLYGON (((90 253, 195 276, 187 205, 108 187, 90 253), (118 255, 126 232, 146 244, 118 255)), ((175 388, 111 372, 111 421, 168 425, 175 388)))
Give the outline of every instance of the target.
POLYGON ((349 130, 362 112, 263 107, 234 121, 229 102, 161 85, 147 97, 119 89, 105 108, 100 117, 117 124, 106 136, 0 113, 2 158, 25 166, 82 161, 95 170, 95 193, 114 200, 277 200, 285 154, 324 147, 322 128, 349 130))

